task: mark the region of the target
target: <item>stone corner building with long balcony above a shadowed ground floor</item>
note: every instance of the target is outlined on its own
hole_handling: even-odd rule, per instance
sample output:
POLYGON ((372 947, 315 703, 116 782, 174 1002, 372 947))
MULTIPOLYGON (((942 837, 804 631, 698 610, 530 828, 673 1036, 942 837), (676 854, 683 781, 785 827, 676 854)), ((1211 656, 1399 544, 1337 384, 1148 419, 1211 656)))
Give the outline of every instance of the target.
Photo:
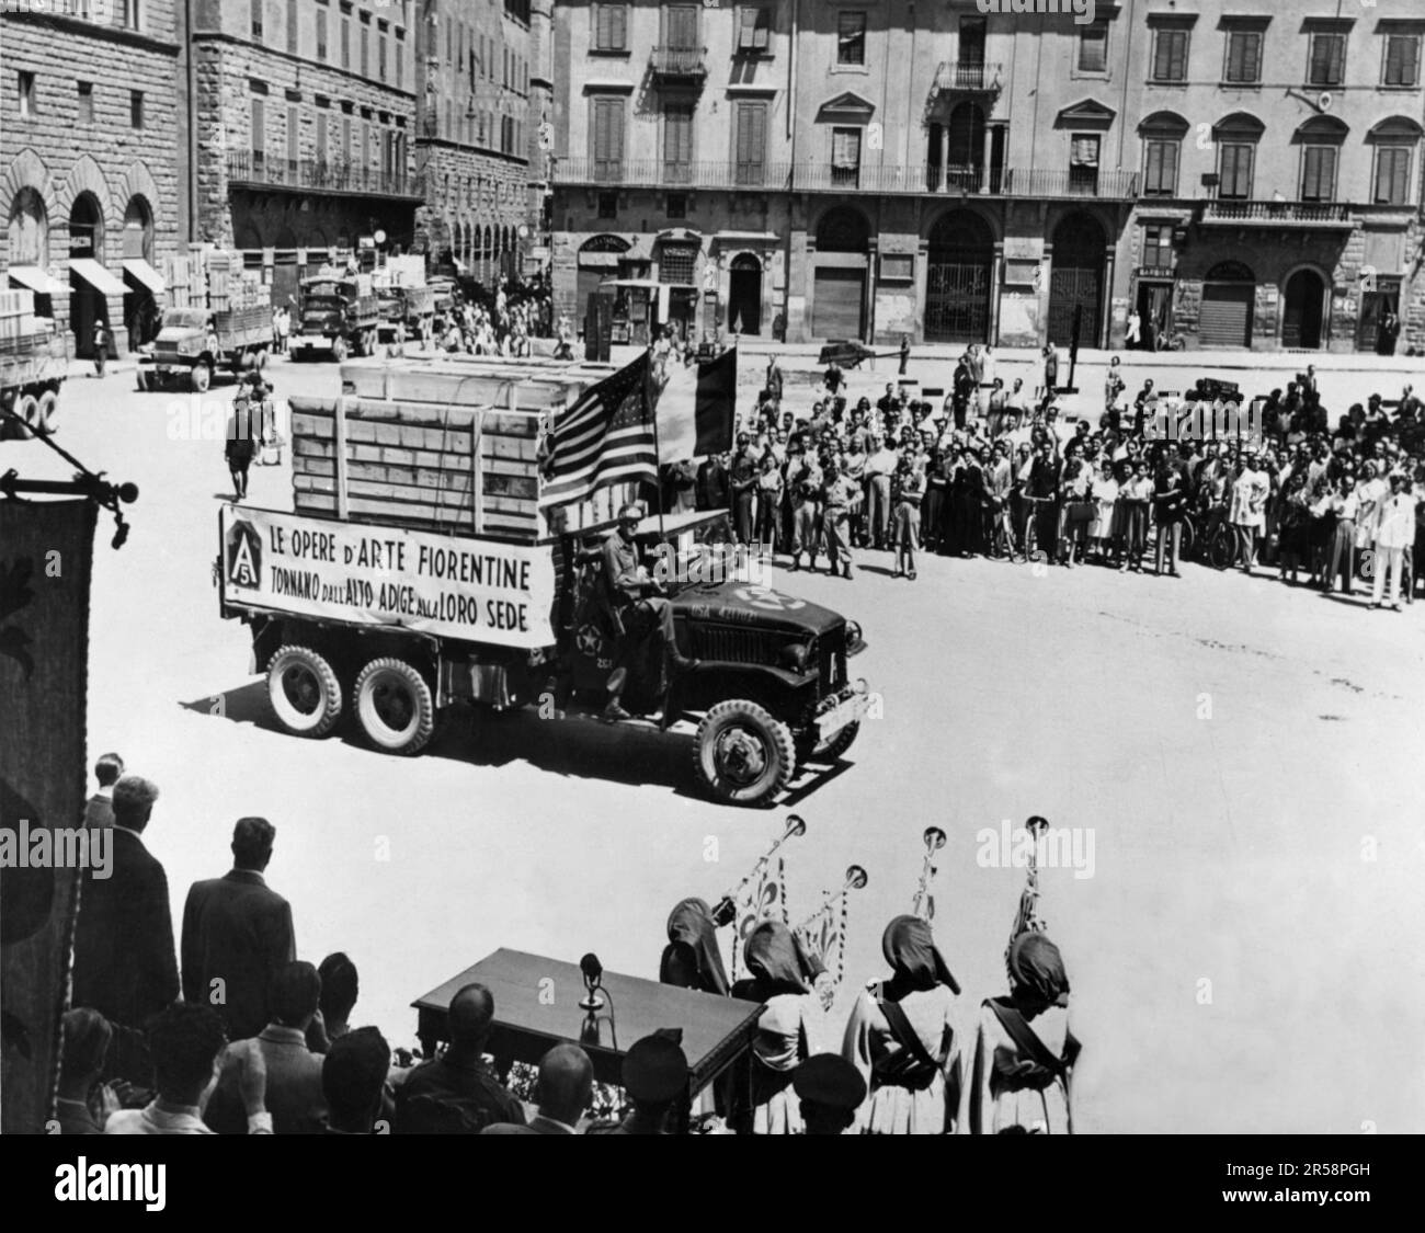
POLYGON ((274 302, 332 255, 415 247, 415 7, 192 0, 197 238, 274 302))

